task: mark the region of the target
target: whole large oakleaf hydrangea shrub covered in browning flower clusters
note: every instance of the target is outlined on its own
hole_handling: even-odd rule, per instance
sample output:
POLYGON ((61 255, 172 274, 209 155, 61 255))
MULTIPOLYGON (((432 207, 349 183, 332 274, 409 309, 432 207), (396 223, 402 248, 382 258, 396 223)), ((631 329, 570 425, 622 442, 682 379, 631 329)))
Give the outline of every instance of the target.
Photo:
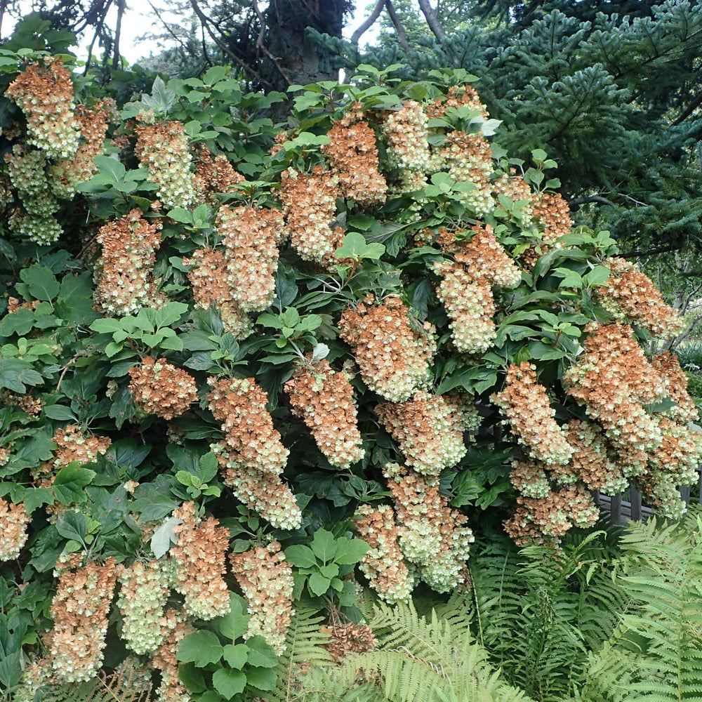
POLYGON ((696 408, 642 347, 680 319, 571 228, 547 154, 491 148, 470 77, 366 67, 277 131, 223 67, 116 105, 24 53, 0 51, 4 687, 26 644, 22 694, 130 651, 164 699, 265 694, 295 602, 449 592, 483 515, 556 543, 630 479, 680 515, 696 408))

